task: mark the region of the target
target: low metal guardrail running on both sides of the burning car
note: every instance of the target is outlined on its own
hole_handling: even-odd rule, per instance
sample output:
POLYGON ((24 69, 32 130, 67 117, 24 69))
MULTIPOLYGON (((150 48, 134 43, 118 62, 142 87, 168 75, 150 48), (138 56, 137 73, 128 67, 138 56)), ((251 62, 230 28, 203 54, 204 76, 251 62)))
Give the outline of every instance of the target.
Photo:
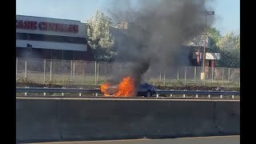
MULTIPOLYGON (((212 90, 156 90, 157 97, 159 94, 183 94, 185 97, 185 94, 190 95, 240 95, 240 91, 212 91, 212 90)), ((99 89, 82 89, 82 88, 42 88, 42 87, 16 87, 16 93, 79 93, 79 96, 81 96, 81 93, 84 94, 101 94, 101 90, 99 89)))

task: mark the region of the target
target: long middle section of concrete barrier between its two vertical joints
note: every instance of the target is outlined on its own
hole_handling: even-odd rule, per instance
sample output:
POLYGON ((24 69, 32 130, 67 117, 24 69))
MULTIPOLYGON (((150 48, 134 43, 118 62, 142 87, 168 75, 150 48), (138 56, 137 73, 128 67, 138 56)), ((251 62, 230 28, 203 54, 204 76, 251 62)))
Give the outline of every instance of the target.
POLYGON ((214 134, 214 102, 58 100, 57 113, 64 139, 214 134))

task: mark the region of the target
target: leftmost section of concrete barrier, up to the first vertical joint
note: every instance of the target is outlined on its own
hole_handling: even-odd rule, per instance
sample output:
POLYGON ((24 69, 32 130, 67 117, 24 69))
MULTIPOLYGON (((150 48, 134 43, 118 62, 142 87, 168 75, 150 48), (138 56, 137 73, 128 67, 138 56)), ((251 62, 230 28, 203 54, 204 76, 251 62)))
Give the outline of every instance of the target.
POLYGON ((56 101, 16 99, 16 138, 19 141, 58 141, 56 101))

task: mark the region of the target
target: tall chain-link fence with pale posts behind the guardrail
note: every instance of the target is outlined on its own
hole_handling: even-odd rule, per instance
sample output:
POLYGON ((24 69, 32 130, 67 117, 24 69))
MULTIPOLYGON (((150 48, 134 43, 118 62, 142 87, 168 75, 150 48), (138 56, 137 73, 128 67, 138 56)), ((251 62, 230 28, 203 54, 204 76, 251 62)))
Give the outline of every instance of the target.
MULTIPOLYGON (((127 70, 127 63, 86 62, 54 59, 16 60, 16 82, 29 80, 35 83, 79 84, 98 86, 114 76, 117 71, 127 70)), ((240 86, 240 69, 206 67, 205 79, 202 67, 165 67, 165 70, 150 68, 143 80, 160 86, 240 86)))

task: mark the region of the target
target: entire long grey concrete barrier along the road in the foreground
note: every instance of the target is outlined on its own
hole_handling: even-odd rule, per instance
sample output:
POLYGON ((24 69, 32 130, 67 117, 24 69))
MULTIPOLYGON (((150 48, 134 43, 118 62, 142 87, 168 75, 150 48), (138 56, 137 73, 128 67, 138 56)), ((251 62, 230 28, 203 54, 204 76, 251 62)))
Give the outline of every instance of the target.
POLYGON ((238 108, 232 102, 71 98, 16 103, 18 140, 172 138, 225 134, 221 130, 237 134, 240 128, 239 119, 228 123, 232 117, 226 117, 238 108))

